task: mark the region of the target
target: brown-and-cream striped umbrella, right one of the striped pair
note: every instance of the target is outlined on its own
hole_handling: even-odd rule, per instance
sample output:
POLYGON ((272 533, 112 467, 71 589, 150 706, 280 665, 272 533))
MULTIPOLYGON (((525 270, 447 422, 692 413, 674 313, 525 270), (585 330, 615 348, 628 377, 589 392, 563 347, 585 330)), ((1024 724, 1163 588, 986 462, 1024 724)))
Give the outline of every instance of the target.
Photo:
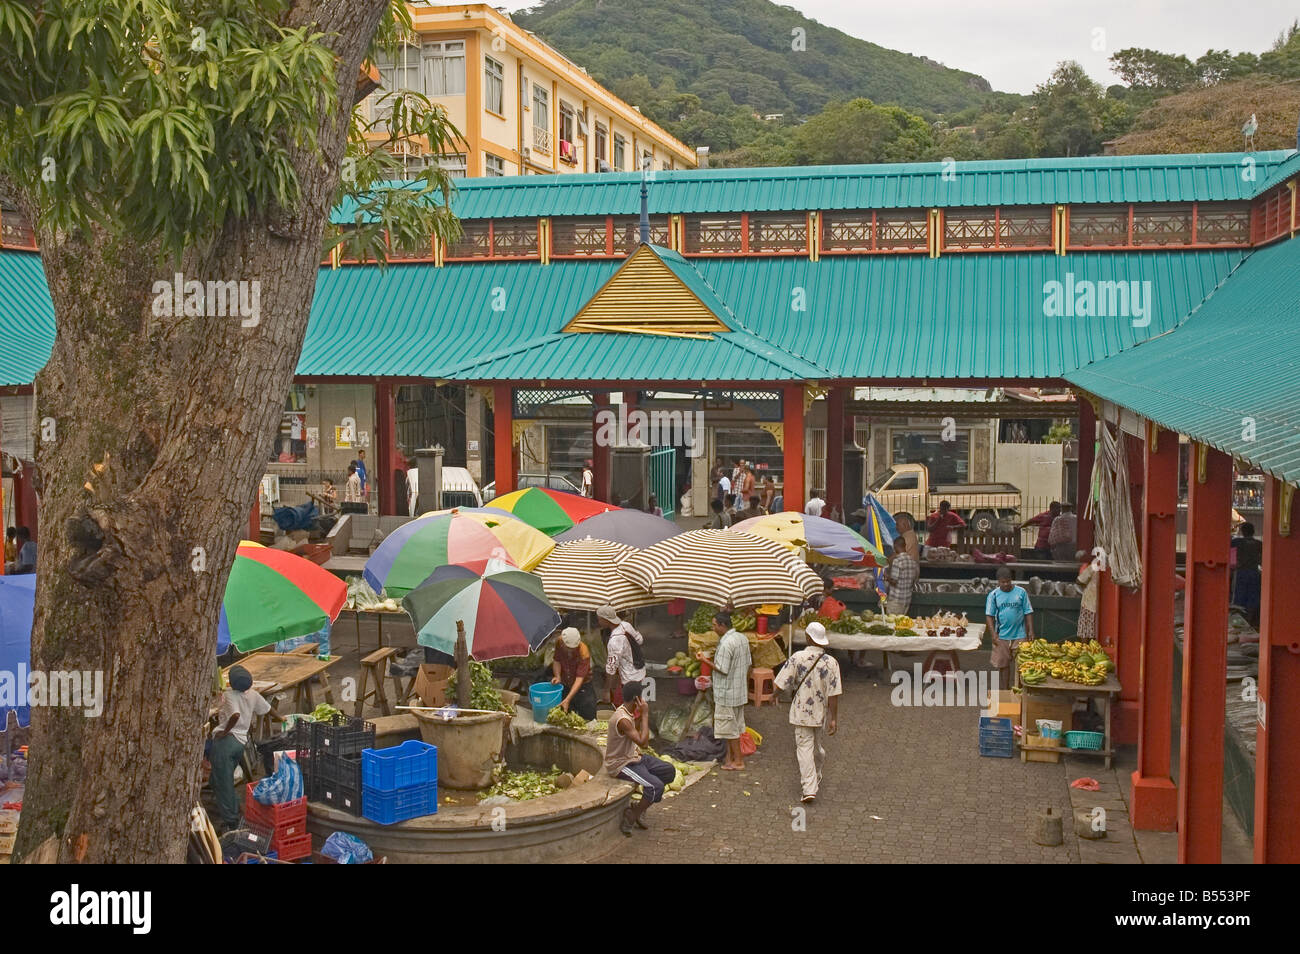
POLYGON ((634 552, 619 564, 656 597, 716 606, 802 603, 822 578, 775 541, 731 530, 690 530, 634 552))

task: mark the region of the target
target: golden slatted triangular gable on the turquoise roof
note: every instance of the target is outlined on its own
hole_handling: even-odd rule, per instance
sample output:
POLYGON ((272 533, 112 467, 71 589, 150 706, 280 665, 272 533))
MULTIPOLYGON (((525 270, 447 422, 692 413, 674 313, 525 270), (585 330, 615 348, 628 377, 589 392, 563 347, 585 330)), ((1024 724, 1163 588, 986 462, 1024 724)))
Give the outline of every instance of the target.
POLYGON ((697 337, 731 329, 650 246, 641 246, 564 330, 697 337))

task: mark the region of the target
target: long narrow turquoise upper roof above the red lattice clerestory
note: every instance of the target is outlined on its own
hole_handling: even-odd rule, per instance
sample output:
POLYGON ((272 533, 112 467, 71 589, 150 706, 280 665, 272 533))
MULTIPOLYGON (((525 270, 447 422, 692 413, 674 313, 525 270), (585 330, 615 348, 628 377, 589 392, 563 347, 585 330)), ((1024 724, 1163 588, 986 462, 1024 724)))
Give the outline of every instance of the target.
MULTIPOLYGON (((1251 199, 1295 149, 1173 156, 1089 156, 957 162, 894 162, 655 172, 650 213, 956 208, 1251 199), (1251 175, 1243 161, 1253 160, 1251 175), (945 172, 948 175, 945 177, 945 172)), ((1290 173, 1288 173, 1290 174, 1290 173)), ((512 175, 456 181, 462 218, 634 216, 640 173, 512 175)), ((354 205, 333 221, 350 224, 354 205)))

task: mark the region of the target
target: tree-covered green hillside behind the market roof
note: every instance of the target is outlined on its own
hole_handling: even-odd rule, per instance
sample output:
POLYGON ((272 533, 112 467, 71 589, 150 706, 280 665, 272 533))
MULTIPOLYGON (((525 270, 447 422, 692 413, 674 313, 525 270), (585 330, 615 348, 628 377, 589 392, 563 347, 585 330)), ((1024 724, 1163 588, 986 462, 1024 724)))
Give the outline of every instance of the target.
POLYGON ((1020 96, 768 0, 549 0, 514 19, 715 165, 1234 151, 1252 113, 1254 148, 1296 144, 1300 23, 1262 53, 1122 49, 1109 88, 1062 62, 1020 96))

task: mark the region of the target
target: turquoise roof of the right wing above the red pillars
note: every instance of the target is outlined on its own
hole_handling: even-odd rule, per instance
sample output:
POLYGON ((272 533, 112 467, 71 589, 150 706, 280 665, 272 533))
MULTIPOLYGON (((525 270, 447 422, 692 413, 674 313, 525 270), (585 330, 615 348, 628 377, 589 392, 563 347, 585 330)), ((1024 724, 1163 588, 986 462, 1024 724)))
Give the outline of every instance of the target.
POLYGON ((1297 315, 1300 240, 1291 239, 1254 252, 1169 334, 1066 377, 1300 483, 1297 315))

